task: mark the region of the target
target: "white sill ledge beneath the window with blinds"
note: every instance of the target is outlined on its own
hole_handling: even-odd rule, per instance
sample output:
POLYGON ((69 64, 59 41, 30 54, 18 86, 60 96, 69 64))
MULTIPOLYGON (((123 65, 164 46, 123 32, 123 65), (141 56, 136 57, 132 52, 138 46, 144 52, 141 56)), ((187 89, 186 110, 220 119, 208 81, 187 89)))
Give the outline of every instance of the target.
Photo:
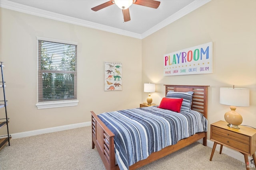
POLYGON ((57 107, 69 107, 69 106, 78 106, 78 100, 59 100, 59 101, 50 101, 50 102, 38 102, 36 107, 38 109, 50 109, 57 107))

